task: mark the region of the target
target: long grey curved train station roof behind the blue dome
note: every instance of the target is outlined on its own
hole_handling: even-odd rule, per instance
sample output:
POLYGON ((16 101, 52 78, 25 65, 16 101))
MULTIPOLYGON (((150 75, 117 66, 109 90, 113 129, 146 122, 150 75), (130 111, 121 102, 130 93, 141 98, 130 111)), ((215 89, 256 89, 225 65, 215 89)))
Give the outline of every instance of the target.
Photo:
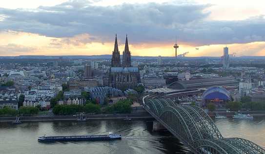
POLYGON ((234 86, 238 85, 239 82, 233 77, 216 77, 216 78, 204 78, 194 79, 186 81, 177 81, 169 84, 167 88, 171 89, 198 89, 208 88, 212 86, 234 86))

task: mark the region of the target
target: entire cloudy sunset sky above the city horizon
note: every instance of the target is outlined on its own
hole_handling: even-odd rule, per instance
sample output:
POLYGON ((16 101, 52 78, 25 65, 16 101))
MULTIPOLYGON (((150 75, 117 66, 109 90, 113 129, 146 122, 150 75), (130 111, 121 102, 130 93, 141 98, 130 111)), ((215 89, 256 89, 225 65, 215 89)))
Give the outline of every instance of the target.
POLYGON ((265 56, 264 0, 1 0, 0 56, 265 56), (195 48, 199 48, 196 50, 195 48))

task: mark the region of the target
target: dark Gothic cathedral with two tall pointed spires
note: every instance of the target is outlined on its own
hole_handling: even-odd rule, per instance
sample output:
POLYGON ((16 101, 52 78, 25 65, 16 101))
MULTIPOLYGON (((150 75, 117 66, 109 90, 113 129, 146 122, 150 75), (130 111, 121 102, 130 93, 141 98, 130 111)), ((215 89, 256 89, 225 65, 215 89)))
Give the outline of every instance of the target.
POLYGON ((109 84, 111 87, 127 90, 134 88, 138 83, 140 83, 140 74, 138 67, 132 67, 131 65, 131 52, 129 51, 127 35, 122 53, 122 64, 116 35, 109 70, 109 84))

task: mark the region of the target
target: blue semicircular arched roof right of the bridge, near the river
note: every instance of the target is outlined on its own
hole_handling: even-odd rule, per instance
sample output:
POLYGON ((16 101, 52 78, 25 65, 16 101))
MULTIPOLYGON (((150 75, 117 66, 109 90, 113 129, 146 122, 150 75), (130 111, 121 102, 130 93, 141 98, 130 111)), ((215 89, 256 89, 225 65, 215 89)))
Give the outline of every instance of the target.
POLYGON ((204 99, 223 99, 223 100, 231 100, 229 92, 224 89, 223 87, 210 87, 209 89, 205 90, 203 93, 203 100, 204 99))

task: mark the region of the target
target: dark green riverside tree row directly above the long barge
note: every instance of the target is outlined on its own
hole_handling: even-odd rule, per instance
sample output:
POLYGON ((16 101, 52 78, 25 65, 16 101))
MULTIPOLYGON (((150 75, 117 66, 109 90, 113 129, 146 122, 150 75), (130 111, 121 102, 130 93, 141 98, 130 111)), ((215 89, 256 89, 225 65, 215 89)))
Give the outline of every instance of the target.
POLYGON ((98 104, 88 103, 83 105, 55 105, 53 113, 55 115, 73 115, 79 112, 84 113, 100 113, 101 107, 98 104))

